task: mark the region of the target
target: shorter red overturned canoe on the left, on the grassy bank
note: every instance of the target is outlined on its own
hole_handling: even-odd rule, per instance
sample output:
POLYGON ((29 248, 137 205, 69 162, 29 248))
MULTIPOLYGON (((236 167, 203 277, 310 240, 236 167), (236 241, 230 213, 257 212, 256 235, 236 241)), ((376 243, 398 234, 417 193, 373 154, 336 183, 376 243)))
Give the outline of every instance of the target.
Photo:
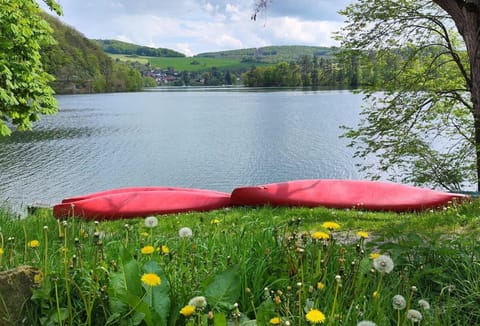
POLYGON ((69 201, 53 207, 56 218, 70 216, 90 220, 144 217, 188 211, 209 211, 228 206, 230 194, 209 190, 163 189, 119 191, 69 201))

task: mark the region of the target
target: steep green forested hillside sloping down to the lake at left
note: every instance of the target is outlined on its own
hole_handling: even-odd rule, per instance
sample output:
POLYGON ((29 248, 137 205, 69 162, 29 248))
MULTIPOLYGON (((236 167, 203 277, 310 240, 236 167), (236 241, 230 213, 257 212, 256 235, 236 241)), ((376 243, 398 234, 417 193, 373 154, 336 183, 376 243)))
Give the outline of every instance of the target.
POLYGON ((113 61, 97 43, 74 28, 43 13, 57 41, 42 49, 45 70, 55 77, 57 94, 137 91, 143 88, 140 72, 113 61))

